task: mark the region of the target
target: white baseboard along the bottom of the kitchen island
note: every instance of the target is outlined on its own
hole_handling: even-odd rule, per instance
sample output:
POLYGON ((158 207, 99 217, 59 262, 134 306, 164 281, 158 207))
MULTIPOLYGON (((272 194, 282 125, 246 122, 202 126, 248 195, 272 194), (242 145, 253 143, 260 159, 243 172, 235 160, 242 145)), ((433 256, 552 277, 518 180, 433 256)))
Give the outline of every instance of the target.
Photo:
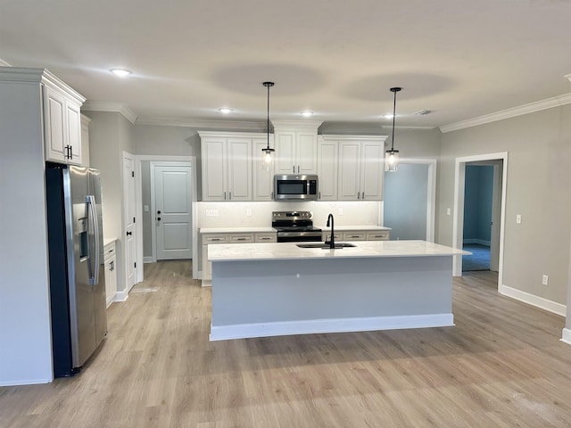
POLYGON ((452 314, 331 318, 259 324, 211 325, 210 340, 212 342, 290 334, 369 332, 375 330, 445 327, 451 325, 454 325, 454 316, 452 314))

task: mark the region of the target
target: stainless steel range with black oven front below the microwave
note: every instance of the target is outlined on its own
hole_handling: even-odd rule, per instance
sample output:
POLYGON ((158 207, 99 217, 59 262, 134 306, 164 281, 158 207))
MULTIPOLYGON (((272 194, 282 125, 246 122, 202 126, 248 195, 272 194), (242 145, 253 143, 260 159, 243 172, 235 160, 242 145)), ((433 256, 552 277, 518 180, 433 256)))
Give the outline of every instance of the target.
POLYGON ((313 226, 311 211, 273 211, 271 226, 278 243, 319 243, 321 229, 313 226))

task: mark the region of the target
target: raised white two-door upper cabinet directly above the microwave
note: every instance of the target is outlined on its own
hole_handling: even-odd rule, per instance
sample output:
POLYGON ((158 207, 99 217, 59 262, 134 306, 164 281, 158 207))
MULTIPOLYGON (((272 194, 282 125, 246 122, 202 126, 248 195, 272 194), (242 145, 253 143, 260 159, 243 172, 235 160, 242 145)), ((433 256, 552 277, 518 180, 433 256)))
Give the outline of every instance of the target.
POLYGON ((318 128, 315 120, 272 120, 276 142, 275 174, 317 174, 318 128))

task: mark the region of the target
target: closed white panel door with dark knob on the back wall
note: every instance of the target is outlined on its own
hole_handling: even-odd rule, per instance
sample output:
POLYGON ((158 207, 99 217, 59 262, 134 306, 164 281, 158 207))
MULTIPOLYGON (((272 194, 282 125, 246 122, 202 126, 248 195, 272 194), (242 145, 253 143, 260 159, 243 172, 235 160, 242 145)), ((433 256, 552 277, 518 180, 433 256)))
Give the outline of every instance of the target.
POLYGON ((192 259, 192 170, 190 164, 152 164, 157 260, 192 259))

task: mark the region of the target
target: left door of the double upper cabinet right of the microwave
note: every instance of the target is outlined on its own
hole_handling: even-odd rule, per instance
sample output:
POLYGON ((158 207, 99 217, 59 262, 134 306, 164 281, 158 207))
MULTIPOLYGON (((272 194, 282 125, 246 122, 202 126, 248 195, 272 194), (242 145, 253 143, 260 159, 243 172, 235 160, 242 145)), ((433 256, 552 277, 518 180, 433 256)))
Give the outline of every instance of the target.
POLYGON ((339 143, 339 170, 337 192, 340 201, 360 199, 360 143, 339 143))

